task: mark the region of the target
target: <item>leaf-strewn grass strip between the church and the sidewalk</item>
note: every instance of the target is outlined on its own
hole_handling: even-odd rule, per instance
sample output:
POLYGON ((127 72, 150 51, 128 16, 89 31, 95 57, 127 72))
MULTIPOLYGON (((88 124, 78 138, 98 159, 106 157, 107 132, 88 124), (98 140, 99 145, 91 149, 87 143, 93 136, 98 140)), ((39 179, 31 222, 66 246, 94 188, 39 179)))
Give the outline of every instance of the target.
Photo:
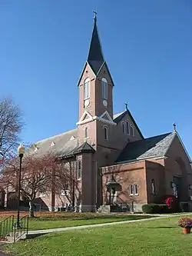
MULTIPOLYGON (((22 215, 25 215, 25 213, 22 213, 22 215)), ((8 214, 4 214, 4 218, 7 218, 7 217, 8 217, 8 214)), ((114 222, 114 221, 131 221, 131 220, 137 220, 141 218, 151 218, 151 216, 134 215, 134 214, 105 214, 104 215, 104 214, 95 214, 95 213, 42 212, 42 213, 37 213, 36 218, 29 219, 29 230, 39 230, 39 229, 48 229, 48 228, 65 228, 65 227, 81 226, 86 224, 100 224, 100 223, 107 223, 107 222, 114 222)))

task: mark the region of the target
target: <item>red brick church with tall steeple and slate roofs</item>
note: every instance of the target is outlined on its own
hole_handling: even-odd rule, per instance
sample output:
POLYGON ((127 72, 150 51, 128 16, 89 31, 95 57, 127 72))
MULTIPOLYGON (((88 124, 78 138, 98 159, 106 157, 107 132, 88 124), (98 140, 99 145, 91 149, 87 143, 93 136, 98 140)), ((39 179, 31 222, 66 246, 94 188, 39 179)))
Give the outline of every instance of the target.
MULTIPOLYGON (((81 199, 74 198, 76 211, 97 211, 102 205, 121 204, 134 211, 153 203, 164 194, 180 201, 192 198, 190 156, 178 135, 172 132, 144 138, 125 106, 113 111, 114 81, 104 60, 98 35, 97 17, 87 61, 78 81, 79 117, 77 128, 32 145, 35 154, 50 148, 74 163, 81 199)), ((39 194, 51 211, 65 207, 65 193, 39 194)), ((77 196, 77 198, 79 198, 77 196)))

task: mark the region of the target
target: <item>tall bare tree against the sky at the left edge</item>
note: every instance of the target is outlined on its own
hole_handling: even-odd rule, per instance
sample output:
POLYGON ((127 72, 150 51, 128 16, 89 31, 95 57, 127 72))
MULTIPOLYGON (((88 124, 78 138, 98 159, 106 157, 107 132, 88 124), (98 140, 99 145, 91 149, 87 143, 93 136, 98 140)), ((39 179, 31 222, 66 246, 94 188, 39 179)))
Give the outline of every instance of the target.
POLYGON ((18 147, 19 134, 23 127, 22 111, 11 98, 0 101, 0 152, 1 159, 18 147))

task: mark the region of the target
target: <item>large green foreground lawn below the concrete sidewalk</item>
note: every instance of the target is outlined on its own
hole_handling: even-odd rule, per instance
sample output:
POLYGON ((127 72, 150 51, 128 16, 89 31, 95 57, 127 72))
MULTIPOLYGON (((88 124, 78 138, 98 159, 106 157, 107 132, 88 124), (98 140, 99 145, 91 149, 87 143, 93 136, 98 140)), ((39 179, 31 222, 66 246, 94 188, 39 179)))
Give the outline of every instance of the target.
POLYGON ((184 256, 191 254, 192 234, 182 234, 178 219, 179 216, 45 234, 3 249, 18 256, 184 256))

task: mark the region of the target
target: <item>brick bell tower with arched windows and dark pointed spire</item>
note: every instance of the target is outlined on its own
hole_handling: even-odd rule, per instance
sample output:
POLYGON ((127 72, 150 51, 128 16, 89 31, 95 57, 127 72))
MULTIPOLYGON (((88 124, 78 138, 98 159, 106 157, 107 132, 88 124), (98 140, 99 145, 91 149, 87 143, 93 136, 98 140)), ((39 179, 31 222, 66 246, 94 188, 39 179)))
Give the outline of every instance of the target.
MULTIPOLYGON (((108 65, 104 60, 101 41, 98 35, 97 13, 94 12, 94 27, 88 58, 85 62, 81 77, 78 81, 79 88, 79 143, 88 141, 97 148, 98 131, 103 128, 103 138, 108 141, 108 133, 113 121, 113 87, 108 65)), ((95 148, 95 149, 96 149, 95 148)))

